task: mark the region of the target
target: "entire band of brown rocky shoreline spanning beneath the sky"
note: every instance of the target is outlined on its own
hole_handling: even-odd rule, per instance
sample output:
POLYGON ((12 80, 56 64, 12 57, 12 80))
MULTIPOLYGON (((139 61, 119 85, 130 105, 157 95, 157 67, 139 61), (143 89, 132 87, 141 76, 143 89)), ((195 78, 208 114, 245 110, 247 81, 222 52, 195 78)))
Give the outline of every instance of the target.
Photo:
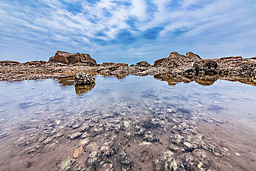
POLYGON ((0 61, 0 81, 36 80, 59 78, 75 71, 97 72, 108 75, 158 75, 169 74, 185 78, 203 76, 256 77, 256 57, 224 57, 203 60, 198 55, 188 52, 180 55, 171 52, 167 58, 156 60, 153 65, 146 61, 137 64, 103 63, 97 64, 89 54, 71 54, 57 51, 48 62, 32 61, 19 63, 0 61))

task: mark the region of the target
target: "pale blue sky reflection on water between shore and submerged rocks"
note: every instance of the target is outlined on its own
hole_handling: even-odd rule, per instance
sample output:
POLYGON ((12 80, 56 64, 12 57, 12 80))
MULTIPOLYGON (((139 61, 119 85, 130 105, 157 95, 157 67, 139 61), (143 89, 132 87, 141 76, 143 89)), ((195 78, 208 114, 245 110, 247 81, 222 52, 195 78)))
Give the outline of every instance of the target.
POLYGON ((195 82, 173 86, 152 76, 95 77, 96 85, 80 95, 68 79, 0 82, 0 125, 63 113, 78 115, 92 109, 100 114, 139 115, 149 107, 158 112, 174 107, 178 113, 221 114, 244 117, 248 122, 256 115, 256 87, 252 85, 217 80, 208 86, 195 82))

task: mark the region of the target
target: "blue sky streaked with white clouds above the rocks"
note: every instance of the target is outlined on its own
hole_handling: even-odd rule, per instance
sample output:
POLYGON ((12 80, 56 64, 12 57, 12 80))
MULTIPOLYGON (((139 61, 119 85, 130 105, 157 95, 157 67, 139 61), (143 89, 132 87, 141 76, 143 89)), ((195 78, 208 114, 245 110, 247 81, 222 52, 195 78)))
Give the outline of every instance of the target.
POLYGON ((0 0, 0 60, 56 51, 135 64, 192 51, 256 56, 256 0, 0 0))

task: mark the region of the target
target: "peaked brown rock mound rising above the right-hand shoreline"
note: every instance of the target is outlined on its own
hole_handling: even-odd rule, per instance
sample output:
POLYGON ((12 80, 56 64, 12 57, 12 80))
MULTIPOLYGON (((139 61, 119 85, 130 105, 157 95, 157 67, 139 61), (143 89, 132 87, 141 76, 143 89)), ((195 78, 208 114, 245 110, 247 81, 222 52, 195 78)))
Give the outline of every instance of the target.
POLYGON ((173 67, 184 65, 188 62, 196 62, 200 60, 201 58, 192 52, 188 52, 186 56, 180 55, 177 52, 171 52, 168 58, 162 58, 162 59, 156 60, 154 62, 154 66, 173 68, 173 67))

